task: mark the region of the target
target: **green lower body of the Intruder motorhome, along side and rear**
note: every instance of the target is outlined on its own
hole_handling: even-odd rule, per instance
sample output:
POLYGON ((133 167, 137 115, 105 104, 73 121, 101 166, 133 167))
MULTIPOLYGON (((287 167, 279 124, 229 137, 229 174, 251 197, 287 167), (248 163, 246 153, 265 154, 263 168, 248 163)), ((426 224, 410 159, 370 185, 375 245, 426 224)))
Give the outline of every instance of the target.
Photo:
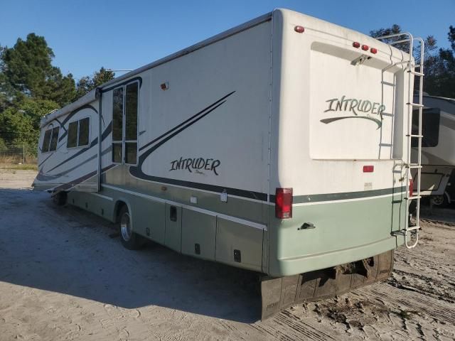
POLYGON ((274 277, 366 259, 403 242, 402 237, 392 235, 405 224, 403 193, 294 205, 288 220, 275 218, 273 205, 249 201, 247 205, 258 206, 255 212, 264 207, 269 212, 269 223, 258 228, 258 224, 244 222, 260 222, 260 214, 257 220, 227 214, 235 207, 226 205, 241 205, 239 198, 225 203, 219 195, 203 193, 204 200, 191 206, 184 200, 199 199, 198 192, 170 187, 168 191, 173 192, 172 201, 141 189, 111 185, 103 186, 100 193, 70 192, 68 202, 111 221, 116 220, 119 202, 124 202, 137 234, 183 254, 274 277), (210 207, 204 206, 209 199, 210 207))

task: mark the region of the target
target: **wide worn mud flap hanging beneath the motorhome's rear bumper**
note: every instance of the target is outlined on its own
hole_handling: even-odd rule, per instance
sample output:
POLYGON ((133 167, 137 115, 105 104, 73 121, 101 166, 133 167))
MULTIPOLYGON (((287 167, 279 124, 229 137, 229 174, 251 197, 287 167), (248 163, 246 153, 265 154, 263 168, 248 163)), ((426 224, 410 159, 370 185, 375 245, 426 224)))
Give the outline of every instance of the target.
POLYGON ((262 314, 267 319, 297 303, 331 298, 392 274, 393 250, 368 259, 304 274, 261 278, 262 314))

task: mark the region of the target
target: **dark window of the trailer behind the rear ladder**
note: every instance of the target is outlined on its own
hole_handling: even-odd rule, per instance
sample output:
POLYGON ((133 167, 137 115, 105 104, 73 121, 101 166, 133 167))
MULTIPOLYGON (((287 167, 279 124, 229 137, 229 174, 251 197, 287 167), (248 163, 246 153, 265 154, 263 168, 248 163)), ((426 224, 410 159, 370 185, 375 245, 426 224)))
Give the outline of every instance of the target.
MULTIPOLYGON (((439 142, 439 120, 441 110, 437 108, 424 109, 422 112, 422 147, 436 147, 439 142)), ((419 134, 419 110, 412 112, 412 134, 419 134)), ((412 146, 417 147, 417 139, 412 139, 412 146)))

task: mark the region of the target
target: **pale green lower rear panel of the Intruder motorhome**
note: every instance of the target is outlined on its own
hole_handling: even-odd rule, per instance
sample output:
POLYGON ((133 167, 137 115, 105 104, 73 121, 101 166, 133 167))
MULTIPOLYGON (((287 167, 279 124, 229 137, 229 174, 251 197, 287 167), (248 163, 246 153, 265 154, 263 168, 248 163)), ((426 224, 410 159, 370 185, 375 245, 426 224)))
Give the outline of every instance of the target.
POLYGON ((289 220, 270 212, 267 274, 291 276, 394 249, 403 243, 392 235, 405 226, 401 195, 296 205, 289 220))

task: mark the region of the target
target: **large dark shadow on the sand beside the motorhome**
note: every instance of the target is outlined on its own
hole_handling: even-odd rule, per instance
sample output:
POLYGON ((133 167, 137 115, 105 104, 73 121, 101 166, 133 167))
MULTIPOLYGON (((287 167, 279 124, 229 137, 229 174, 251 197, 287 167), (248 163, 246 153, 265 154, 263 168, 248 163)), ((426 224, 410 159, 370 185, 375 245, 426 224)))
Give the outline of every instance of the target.
POLYGON ((47 193, 0 190, 0 281, 122 308, 159 305, 252 323, 256 276, 149 244, 129 251, 114 225, 47 193))

